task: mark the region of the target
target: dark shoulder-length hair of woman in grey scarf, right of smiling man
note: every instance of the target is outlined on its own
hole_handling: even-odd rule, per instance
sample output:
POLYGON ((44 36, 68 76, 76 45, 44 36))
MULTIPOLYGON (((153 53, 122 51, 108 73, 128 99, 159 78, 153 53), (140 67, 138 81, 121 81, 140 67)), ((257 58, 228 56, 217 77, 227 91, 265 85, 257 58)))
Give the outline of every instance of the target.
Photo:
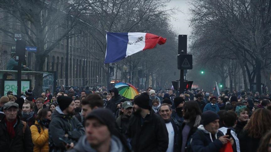
POLYGON ((199 109, 199 104, 197 101, 188 101, 183 104, 183 110, 185 114, 184 119, 194 120, 197 115, 201 115, 201 110, 199 109))

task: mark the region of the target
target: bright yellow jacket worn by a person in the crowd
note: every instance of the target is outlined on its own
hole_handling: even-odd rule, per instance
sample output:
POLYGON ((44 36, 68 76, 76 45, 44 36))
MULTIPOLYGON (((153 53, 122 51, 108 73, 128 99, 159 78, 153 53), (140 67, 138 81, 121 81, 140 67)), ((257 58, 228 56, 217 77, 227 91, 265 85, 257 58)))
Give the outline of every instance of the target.
POLYGON ((36 125, 40 126, 40 133, 36 125, 30 127, 32 141, 34 144, 34 152, 49 152, 49 134, 48 129, 43 130, 43 127, 35 121, 36 125))

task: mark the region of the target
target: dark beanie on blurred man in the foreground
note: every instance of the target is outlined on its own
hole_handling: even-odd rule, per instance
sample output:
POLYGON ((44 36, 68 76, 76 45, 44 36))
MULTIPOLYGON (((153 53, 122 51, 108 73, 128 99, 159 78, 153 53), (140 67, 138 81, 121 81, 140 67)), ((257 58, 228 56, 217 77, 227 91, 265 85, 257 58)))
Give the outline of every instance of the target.
POLYGON ((110 133, 113 133, 115 126, 115 117, 111 110, 107 108, 98 108, 94 109, 91 113, 89 113, 85 120, 96 118, 101 124, 104 124, 108 127, 110 133))

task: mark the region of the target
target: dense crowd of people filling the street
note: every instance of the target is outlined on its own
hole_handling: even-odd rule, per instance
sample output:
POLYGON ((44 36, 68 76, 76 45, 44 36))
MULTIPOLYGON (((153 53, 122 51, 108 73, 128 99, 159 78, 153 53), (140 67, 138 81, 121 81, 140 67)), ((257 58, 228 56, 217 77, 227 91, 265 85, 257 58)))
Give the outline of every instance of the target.
POLYGON ((270 94, 113 88, 0 98, 4 152, 271 152, 270 94))

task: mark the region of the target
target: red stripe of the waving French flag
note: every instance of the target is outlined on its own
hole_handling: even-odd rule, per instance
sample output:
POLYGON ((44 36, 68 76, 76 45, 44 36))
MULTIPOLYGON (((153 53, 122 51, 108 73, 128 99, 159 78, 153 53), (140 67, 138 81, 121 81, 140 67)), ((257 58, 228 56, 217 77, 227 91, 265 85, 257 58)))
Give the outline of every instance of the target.
POLYGON ((143 50, 151 49, 156 46, 156 44, 165 44, 167 41, 166 38, 162 38, 161 36, 157 36, 151 33, 146 33, 145 35, 145 47, 143 50))

